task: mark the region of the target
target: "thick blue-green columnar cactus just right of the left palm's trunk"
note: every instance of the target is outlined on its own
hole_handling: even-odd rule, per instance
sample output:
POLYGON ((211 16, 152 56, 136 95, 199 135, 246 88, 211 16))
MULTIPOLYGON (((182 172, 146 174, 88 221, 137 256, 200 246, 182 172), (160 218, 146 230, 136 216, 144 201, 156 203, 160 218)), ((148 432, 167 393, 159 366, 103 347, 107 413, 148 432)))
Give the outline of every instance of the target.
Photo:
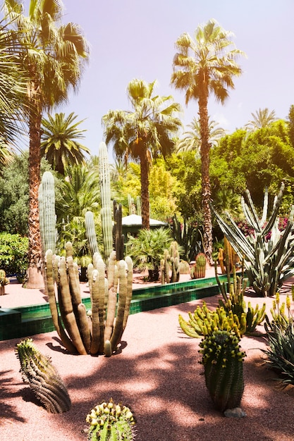
POLYGON ((47 249, 55 253, 56 244, 56 214, 54 177, 51 172, 45 171, 39 185, 39 228, 42 240, 43 256, 47 249))

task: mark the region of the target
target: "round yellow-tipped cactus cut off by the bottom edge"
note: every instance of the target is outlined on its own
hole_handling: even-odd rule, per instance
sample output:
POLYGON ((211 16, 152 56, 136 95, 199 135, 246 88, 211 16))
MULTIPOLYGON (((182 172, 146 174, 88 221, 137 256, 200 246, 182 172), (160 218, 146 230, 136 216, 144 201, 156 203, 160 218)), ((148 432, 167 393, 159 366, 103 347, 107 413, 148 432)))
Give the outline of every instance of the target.
POLYGON ((135 418, 127 406, 114 404, 113 399, 94 406, 86 416, 90 441, 134 440, 135 418))

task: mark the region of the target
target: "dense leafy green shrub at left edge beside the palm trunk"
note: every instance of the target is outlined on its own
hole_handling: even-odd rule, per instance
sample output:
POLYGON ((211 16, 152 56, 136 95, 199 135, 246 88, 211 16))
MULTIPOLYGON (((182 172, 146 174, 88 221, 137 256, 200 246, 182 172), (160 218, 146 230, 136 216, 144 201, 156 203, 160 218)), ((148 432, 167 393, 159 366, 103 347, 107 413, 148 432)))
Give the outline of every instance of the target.
POLYGON ((7 275, 16 274, 19 281, 23 280, 28 266, 27 237, 1 232, 0 249, 0 268, 4 269, 7 275))

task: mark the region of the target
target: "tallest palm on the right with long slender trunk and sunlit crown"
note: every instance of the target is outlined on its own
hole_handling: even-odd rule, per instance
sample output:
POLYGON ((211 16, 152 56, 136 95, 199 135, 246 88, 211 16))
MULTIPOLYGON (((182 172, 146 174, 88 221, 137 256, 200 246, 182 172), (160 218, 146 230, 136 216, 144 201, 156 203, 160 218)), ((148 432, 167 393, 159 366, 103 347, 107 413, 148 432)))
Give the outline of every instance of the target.
POLYGON ((204 214, 204 251, 212 262, 212 213, 209 206, 211 187, 209 180, 209 117, 207 111, 210 94, 221 104, 233 89, 233 77, 242 73, 236 58, 243 54, 231 41, 233 34, 223 30, 215 20, 199 25, 194 39, 188 33, 176 41, 177 53, 173 58, 171 83, 185 91, 185 103, 195 99, 199 106, 202 161, 202 209, 204 214), (233 49, 231 49, 233 47, 233 49))

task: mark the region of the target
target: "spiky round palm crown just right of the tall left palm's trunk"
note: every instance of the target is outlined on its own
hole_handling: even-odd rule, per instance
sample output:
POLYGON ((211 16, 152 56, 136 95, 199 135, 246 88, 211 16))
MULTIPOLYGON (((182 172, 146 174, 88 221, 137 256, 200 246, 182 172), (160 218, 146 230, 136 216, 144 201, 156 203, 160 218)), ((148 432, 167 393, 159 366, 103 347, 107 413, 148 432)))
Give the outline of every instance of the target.
POLYGON ((61 175, 64 175, 64 168, 71 164, 85 164, 85 153, 90 154, 90 149, 78 142, 78 139, 86 130, 80 130, 78 118, 74 113, 68 117, 64 113, 55 113, 55 116, 48 115, 48 119, 42 119, 41 135, 41 156, 61 175))

